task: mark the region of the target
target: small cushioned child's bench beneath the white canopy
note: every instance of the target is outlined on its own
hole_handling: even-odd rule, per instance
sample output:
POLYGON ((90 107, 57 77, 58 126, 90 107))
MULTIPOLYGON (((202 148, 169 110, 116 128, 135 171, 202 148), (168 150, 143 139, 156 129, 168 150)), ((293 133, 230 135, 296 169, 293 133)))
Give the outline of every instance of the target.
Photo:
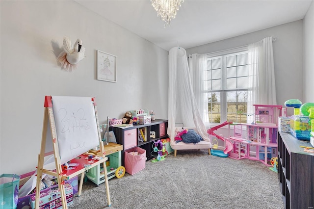
MULTIPOLYGON (((197 132, 196 128, 190 128, 190 127, 183 127, 183 128, 177 128, 178 130, 181 129, 193 129, 194 131, 197 132)), ((210 155, 210 148, 211 148, 211 142, 210 141, 205 141, 202 140, 198 143, 184 143, 183 141, 181 142, 176 142, 174 138, 171 139, 171 148, 174 149, 174 156, 177 156, 177 150, 200 150, 200 149, 208 149, 208 154, 210 155)))

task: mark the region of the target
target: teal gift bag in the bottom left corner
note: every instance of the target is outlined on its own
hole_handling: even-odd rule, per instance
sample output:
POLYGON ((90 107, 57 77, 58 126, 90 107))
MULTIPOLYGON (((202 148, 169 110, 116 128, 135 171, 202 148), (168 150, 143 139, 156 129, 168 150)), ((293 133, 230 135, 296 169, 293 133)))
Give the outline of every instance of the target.
POLYGON ((0 176, 0 209, 16 209, 19 198, 20 176, 2 174, 0 176))

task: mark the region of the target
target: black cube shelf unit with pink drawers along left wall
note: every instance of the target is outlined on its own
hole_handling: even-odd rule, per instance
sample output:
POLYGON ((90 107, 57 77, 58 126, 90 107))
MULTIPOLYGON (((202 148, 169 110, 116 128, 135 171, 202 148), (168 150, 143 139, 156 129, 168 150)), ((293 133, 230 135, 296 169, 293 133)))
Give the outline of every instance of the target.
MULTIPOLYGON (((158 139, 165 139, 167 135, 168 120, 156 119, 149 124, 137 124, 132 127, 121 129, 112 127, 118 144, 122 149, 122 166, 124 166, 124 153, 134 147, 146 150, 146 160, 154 156, 154 143, 158 139), (152 155, 153 154, 153 155, 152 155)), ((168 151, 170 153, 171 151, 168 151)))

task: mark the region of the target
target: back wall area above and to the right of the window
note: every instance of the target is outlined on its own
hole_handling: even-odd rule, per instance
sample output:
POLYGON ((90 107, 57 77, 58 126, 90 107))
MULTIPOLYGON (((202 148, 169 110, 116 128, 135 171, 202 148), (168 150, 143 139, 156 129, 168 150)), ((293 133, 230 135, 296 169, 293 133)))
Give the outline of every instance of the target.
MULTIPOLYGON (((302 101, 302 20, 190 48, 186 50, 186 53, 218 52, 255 43, 268 36, 277 38, 273 42, 277 104, 284 106, 288 99, 299 99, 302 101)), ((292 108, 288 108, 288 114, 293 114, 292 108)))

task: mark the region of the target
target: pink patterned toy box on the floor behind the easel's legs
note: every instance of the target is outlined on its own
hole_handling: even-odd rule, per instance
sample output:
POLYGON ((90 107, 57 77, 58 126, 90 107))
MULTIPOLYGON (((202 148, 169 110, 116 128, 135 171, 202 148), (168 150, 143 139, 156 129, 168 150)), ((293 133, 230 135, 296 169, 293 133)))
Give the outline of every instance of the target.
MULTIPOLYGON (((73 187, 67 183, 64 185, 65 196, 68 206, 73 205, 73 187)), ((35 209, 36 197, 32 196, 30 199, 30 208, 35 209)), ((40 193, 39 209, 61 209, 61 193, 58 185, 52 186, 48 191, 40 193)))

